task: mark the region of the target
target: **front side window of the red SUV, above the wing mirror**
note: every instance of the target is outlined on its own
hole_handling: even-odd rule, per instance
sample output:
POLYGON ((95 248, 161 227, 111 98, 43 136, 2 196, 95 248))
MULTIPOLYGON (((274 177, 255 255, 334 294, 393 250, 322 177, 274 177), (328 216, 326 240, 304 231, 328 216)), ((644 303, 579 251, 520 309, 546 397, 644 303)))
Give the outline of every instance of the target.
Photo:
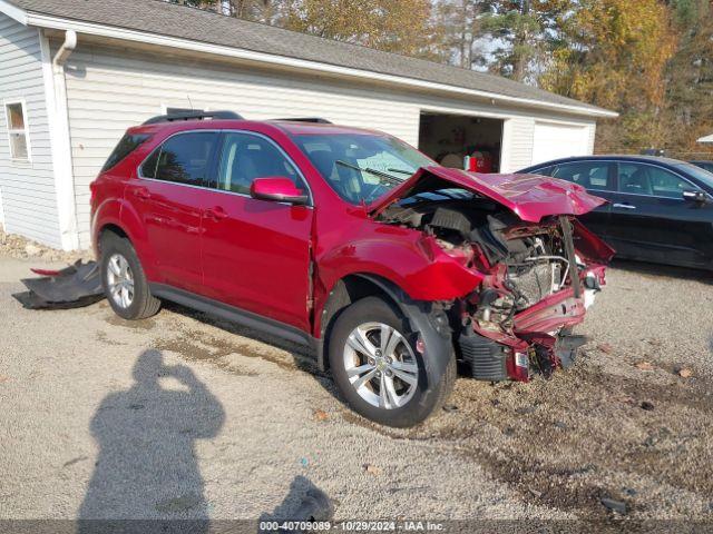
POLYGON ((290 178, 306 191, 294 166, 272 142, 251 134, 225 134, 218 166, 218 189, 247 195, 255 178, 268 176, 290 178))

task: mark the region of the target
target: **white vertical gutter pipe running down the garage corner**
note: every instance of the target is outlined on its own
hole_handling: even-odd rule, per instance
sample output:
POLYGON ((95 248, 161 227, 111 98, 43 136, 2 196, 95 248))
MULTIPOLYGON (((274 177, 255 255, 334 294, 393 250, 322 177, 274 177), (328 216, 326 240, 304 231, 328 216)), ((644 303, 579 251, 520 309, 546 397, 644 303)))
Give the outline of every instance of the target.
POLYGON ((52 150, 52 171, 57 195, 57 215, 62 249, 79 248, 77 225, 77 198, 75 195, 75 172, 71 160, 71 139, 67 115, 67 85, 65 62, 77 47, 77 33, 65 32, 65 41, 52 58, 49 39, 40 30, 40 55, 42 77, 45 79, 45 99, 49 122, 50 147, 52 150))

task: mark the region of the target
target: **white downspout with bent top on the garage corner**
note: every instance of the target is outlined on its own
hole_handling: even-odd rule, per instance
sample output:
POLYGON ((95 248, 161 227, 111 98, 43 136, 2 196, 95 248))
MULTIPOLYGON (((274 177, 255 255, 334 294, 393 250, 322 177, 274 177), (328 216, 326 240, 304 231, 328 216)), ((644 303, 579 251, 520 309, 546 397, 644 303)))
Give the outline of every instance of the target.
MULTIPOLYGON (((45 37, 45 46, 49 52, 49 40, 45 37)), ((77 48, 77 32, 65 31, 65 41, 51 58, 51 78, 53 89, 53 140, 57 200, 59 210, 59 231, 62 248, 76 250, 79 248, 79 225, 77 222, 77 196, 75 190, 75 171, 71 156, 71 139, 69 132, 69 117, 67 113, 67 82, 65 65, 77 48)), ((49 53, 48 53, 49 56, 49 53)))

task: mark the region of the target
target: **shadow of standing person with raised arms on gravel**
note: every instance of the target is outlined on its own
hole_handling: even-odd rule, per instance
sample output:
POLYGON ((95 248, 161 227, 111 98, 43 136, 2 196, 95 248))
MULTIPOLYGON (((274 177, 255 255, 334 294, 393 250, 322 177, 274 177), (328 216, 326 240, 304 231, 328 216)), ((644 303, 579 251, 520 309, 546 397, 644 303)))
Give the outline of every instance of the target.
POLYGON ((108 395, 91 419, 99 455, 78 532, 134 532, 130 523, 119 522, 139 518, 189 520, 191 532, 207 532, 194 448, 196 439, 217 435, 223 406, 191 368, 165 365, 157 350, 139 355, 134 379, 129 389, 108 395), (165 378, 179 387, 162 387, 165 378))

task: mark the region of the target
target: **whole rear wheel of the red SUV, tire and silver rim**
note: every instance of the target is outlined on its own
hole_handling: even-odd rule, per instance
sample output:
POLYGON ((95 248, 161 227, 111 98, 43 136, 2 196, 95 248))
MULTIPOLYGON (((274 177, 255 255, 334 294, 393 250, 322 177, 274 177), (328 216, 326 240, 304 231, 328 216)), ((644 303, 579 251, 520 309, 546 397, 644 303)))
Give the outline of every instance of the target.
POLYGON ((160 308, 160 300, 152 295, 131 243, 113 233, 101 237, 101 284, 109 306, 119 317, 145 319, 160 308), (129 278, 131 284, 128 284, 129 278), (124 298, 126 295, 128 298, 124 298))

